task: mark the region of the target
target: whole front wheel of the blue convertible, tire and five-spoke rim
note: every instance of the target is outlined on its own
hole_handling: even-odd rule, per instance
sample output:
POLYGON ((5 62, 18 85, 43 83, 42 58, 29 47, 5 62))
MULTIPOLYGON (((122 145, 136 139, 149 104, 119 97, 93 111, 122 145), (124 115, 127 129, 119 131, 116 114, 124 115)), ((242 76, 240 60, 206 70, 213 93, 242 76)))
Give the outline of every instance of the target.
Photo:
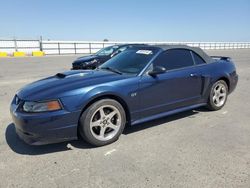
POLYGON ((90 105, 80 118, 80 134, 94 146, 116 141, 126 124, 125 111, 120 103, 102 99, 90 105))

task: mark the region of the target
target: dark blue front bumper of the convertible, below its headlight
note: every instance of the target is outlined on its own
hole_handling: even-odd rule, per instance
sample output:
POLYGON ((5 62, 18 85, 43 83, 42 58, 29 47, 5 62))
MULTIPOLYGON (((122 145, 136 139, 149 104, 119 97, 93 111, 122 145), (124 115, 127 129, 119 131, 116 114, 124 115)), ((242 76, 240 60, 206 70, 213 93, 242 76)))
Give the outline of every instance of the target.
POLYGON ((77 139, 80 112, 65 110, 45 113, 25 113, 11 104, 10 113, 17 135, 30 145, 43 145, 77 139))

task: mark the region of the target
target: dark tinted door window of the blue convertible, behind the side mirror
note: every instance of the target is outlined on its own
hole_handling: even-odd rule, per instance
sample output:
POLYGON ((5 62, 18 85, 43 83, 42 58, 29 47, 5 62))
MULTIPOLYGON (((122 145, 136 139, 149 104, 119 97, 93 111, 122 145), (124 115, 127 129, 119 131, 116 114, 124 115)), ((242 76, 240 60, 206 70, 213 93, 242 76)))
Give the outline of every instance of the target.
POLYGON ((191 52, 185 49, 167 50, 154 61, 154 66, 162 66, 167 70, 179 69, 194 65, 191 52))

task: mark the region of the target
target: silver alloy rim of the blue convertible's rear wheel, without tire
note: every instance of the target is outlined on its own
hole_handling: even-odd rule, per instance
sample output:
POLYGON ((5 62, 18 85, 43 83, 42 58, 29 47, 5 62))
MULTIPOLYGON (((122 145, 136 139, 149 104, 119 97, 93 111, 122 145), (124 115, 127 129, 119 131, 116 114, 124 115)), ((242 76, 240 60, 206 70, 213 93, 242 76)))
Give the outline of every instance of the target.
POLYGON ((218 83, 213 90, 213 103, 216 107, 224 105, 227 97, 227 89, 222 83, 218 83))

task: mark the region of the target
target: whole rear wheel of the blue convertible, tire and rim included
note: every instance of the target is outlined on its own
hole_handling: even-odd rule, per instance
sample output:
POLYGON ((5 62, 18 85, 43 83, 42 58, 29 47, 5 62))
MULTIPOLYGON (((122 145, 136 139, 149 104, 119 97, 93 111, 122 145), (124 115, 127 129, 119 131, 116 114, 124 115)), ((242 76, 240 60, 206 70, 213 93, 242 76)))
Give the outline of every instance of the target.
POLYGON ((224 80, 215 82, 210 90, 208 108, 210 110, 220 110, 227 101, 228 86, 224 80))

